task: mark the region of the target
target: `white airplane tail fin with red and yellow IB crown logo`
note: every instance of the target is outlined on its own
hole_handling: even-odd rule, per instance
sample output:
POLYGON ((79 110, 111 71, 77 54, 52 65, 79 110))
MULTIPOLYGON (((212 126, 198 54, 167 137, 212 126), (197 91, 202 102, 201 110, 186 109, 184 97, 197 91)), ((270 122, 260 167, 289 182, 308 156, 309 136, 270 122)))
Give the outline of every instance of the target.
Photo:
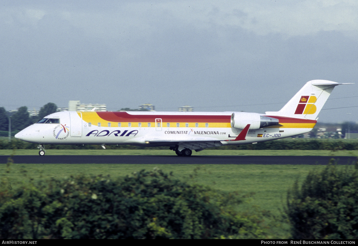
POLYGON ((314 120, 337 85, 343 84, 328 80, 308 81, 280 111, 266 114, 314 120))

